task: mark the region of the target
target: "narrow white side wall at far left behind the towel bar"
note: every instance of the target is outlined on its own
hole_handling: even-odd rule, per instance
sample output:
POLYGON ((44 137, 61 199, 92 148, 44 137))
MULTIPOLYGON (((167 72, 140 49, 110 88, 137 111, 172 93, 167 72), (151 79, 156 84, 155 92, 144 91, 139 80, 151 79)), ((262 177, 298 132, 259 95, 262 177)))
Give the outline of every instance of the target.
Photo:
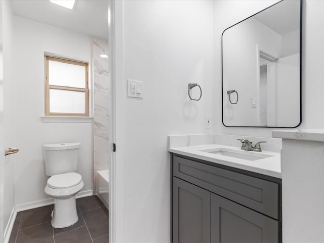
MULTIPOLYGON (((2 2, 3 7, 3 51, 4 51, 4 149, 15 148, 14 96, 14 29, 13 12, 9 1, 2 2)), ((2 151, 3 152, 3 151, 2 151)), ((4 173, 4 227, 6 228, 10 214, 14 208, 14 169, 17 163, 16 154, 5 159, 4 173)))

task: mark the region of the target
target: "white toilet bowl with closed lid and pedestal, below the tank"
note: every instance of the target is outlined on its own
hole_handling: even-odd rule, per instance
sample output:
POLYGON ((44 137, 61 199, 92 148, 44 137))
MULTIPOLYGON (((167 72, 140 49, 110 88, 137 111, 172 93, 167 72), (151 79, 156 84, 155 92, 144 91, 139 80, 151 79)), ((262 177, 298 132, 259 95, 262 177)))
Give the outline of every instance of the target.
POLYGON ((45 192, 55 200, 52 211, 54 228, 65 228, 78 221, 75 194, 83 186, 82 176, 75 172, 54 175, 47 180, 45 192))

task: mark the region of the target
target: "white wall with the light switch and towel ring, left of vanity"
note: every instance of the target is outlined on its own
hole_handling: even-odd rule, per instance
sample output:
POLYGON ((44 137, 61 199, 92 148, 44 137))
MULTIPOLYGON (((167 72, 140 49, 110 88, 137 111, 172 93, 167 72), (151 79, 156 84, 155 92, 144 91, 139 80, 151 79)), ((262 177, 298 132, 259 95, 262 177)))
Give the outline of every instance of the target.
POLYGON ((124 72, 116 73, 124 75, 116 80, 117 109, 123 108, 116 117, 124 141, 116 144, 116 156, 124 156, 116 162, 124 164, 122 242, 170 242, 167 136, 212 132, 205 115, 213 113, 213 1, 126 0, 124 16, 118 13, 116 20, 124 20, 124 38, 117 39, 124 56, 116 53, 124 60, 124 72), (127 79, 144 82, 143 99, 127 98, 127 79), (188 83, 201 85, 200 101, 189 100, 188 83))

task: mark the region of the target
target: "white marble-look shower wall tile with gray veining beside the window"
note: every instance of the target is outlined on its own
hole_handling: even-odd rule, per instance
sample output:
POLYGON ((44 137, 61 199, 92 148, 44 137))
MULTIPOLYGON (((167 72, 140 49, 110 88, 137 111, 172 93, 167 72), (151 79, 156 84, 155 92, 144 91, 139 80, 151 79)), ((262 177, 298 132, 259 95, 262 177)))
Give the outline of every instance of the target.
POLYGON ((109 146, 109 63, 107 54, 108 41, 98 37, 93 38, 93 67, 94 67, 94 178, 98 170, 108 169, 109 146))

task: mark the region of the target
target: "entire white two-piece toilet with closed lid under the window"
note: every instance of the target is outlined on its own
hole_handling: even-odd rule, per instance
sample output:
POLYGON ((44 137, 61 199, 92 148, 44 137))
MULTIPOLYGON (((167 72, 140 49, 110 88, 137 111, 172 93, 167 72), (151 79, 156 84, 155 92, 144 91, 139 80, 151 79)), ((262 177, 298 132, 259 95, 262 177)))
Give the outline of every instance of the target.
POLYGON ((47 180, 45 192, 55 199, 52 226, 65 228, 78 221, 75 194, 84 186, 75 173, 80 143, 44 144, 47 180))

